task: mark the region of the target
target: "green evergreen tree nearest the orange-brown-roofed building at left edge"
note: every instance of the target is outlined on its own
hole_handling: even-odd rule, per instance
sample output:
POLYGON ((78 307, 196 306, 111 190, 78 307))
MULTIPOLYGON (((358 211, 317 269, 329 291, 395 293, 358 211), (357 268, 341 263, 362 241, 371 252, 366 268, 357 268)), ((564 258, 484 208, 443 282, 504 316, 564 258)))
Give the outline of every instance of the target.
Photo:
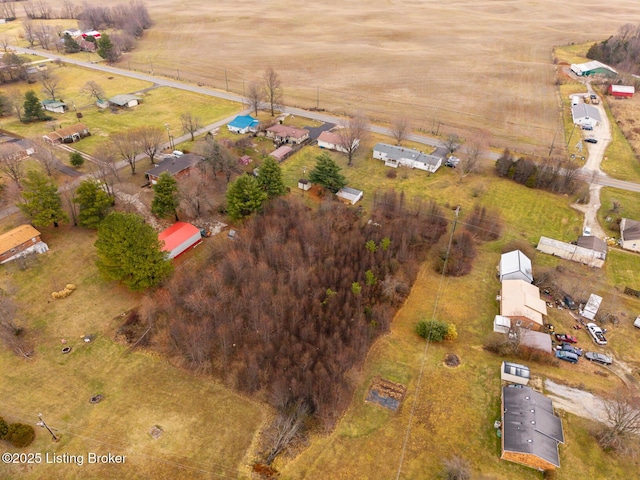
POLYGON ((22 202, 18 208, 36 227, 46 227, 53 223, 68 221, 67 214, 62 209, 62 201, 53 180, 46 175, 31 170, 22 182, 22 202))

